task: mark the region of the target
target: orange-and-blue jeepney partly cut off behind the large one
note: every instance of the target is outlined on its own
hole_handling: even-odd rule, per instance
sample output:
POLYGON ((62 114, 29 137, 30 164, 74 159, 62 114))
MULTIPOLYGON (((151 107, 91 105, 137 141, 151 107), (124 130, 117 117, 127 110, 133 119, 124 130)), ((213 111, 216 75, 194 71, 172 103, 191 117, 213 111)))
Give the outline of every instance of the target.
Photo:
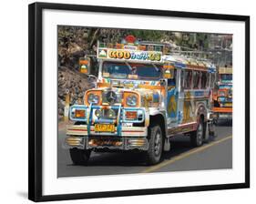
POLYGON ((220 120, 232 119, 232 67, 219 67, 219 81, 213 92, 213 117, 220 120))

